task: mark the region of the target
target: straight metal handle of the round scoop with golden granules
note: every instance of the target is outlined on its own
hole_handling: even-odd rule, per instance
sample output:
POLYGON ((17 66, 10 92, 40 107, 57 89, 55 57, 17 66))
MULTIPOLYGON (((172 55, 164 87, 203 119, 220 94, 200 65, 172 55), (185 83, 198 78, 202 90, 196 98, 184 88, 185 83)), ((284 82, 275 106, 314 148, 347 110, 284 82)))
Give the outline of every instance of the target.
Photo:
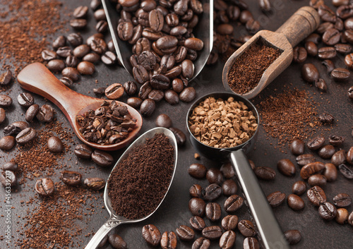
POLYGON ((253 173, 243 150, 230 153, 230 159, 237 173, 238 181, 243 189, 246 203, 258 229, 260 242, 265 249, 289 249, 273 210, 265 198, 265 194, 253 173))

